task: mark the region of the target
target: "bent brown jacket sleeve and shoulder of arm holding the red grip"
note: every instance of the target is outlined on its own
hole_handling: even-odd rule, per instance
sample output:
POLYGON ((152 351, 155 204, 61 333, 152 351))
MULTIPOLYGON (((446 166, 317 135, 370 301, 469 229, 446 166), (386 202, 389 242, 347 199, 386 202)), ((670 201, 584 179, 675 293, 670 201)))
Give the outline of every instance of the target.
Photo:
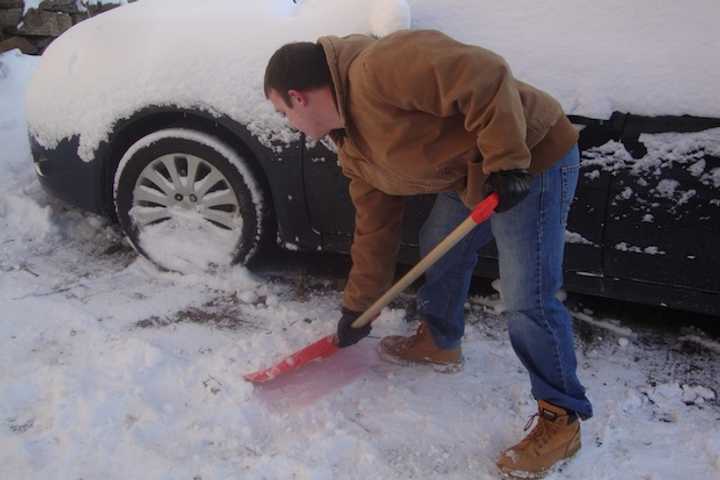
POLYGON ((403 110, 463 115, 477 136, 483 172, 528 168, 525 113, 510 67, 489 50, 440 32, 401 33, 364 57, 364 75, 378 101, 403 110))

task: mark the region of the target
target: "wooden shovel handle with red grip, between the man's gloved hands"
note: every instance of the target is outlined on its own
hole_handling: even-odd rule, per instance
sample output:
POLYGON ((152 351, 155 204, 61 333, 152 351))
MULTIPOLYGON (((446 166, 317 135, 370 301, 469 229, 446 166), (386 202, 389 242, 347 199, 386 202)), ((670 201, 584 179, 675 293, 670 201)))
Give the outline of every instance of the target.
POLYGON ((473 209, 472 213, 458 225, 455 230, 443 239, 442 242, 438 243, 435 248, 423 257, 409 272, 407 272, 400 280, 395 283, 382 297, 378 298, 370 308, 360 315, 352 324, 354 328, 361 328, 370 323, 380 314, 380 311, 385 306, 392 302, 395 297, 400 295, 412 282, 414 282, 420 275, 430 268, 440 257, 445 255, 448 250, 455 246, 460 240, 465 238, 473 228, 478 224, 484 222, 495 211, 499 198, 497 193, 492 193, 486 197, 482 202, 478 203, 473 209))

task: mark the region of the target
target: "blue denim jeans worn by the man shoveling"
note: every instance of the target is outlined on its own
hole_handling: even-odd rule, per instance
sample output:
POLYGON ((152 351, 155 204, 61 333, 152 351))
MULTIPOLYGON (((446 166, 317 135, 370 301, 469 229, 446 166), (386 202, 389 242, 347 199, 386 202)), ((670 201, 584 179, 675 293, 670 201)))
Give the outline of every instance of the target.
MULTIPOLYGON (((510 341, 530 373, 533 396, 589 418, 592 405, 576 374, 572 320, 555 297, 563 282, 565 225, 575 195, 579 157, 575 146, 535 177, 527 198, 478 225, 438 260, 425 273, 417 303, 436 344, 458 346, 465 331, 463 306, 477 252, 495 238, 510 341)), ((420 230, 421 254, 427 254, 469 214, 456 193, 438 194, 420 230)))

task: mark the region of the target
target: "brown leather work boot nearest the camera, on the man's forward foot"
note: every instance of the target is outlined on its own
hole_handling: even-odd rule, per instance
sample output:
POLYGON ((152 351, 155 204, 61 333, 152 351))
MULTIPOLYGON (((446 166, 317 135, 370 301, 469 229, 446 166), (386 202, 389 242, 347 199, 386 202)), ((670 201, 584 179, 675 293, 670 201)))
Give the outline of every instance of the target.
POLYGON ((535 428, 500 456, 497 466, 510 478, 540 478, 550 467, 580 450, 580 422, 575 414, 544 400, 538 402, 535 428))

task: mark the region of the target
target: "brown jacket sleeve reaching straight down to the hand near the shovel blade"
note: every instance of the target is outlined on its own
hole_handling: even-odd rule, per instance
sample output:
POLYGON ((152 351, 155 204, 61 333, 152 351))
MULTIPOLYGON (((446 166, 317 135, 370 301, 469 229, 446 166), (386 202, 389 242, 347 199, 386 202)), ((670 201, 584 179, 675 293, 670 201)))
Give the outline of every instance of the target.
POLYGON ((387 195, 343 168, 355 205, 352 269, 343 306, 364 312, 389 288, 400 248, 404 199, 387 195))

